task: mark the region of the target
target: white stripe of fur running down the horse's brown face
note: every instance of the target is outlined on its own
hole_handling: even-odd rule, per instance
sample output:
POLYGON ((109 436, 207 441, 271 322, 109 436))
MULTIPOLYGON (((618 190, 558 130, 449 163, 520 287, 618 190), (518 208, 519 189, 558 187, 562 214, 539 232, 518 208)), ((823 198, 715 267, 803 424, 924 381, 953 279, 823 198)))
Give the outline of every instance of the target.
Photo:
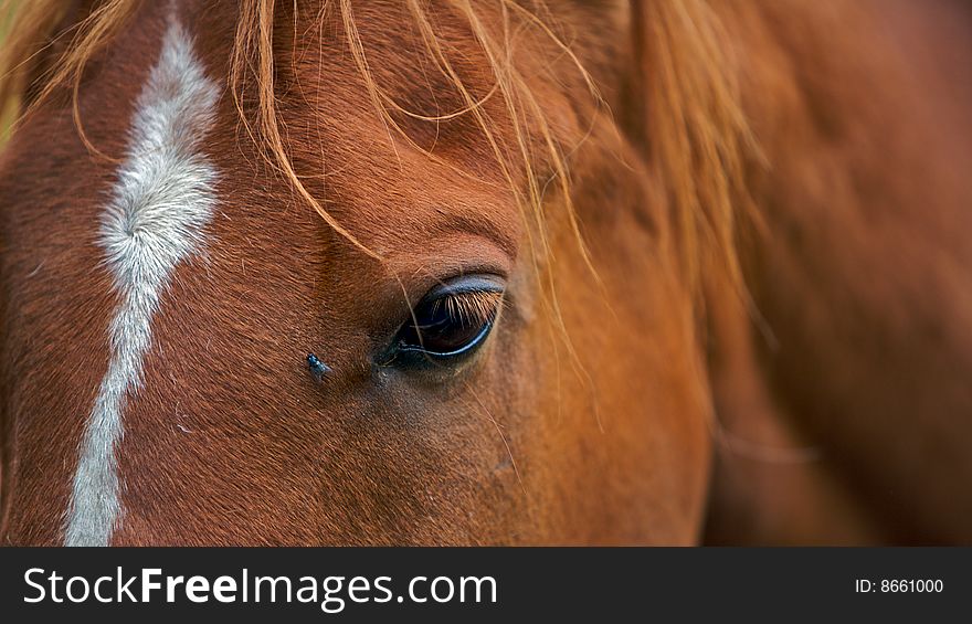
POLYGON ((215 203, 215 169, 200 152, 219 89, 172 18, 157 65, 138 97, 131 136, 99 243, 120 304, 109 328, 110 361, 81 443, 67 509, 66 546, 107 546, 120 526, 122 412, 142 383, 152 315, 172 272, 203 244, 215 203))

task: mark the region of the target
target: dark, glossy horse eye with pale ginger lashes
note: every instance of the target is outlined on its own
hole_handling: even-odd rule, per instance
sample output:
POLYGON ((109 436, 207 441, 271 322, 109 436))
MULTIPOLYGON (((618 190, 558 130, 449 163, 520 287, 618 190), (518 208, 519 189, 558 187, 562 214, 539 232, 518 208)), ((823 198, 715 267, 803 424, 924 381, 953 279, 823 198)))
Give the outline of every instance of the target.
POLYGON ((399 330, 398 363, 447 362, 472 355, 493 329, 503 285, 492 276, 464 276, 430 290, 399 330))

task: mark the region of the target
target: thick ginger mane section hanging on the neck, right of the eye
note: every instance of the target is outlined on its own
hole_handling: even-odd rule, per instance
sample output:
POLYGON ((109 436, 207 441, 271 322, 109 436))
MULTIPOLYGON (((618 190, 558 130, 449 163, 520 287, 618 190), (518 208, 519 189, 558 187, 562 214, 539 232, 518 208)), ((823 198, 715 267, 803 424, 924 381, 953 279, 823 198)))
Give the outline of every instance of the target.
POLYGON ((707 0, 631 6, 644 135, 667 184, 690 287, 700 296, 702 274, 725 269, 748 298, 737 224, 740 216, 761 224, 747 171, 765 162, 743 113, 728 33, 707 0))

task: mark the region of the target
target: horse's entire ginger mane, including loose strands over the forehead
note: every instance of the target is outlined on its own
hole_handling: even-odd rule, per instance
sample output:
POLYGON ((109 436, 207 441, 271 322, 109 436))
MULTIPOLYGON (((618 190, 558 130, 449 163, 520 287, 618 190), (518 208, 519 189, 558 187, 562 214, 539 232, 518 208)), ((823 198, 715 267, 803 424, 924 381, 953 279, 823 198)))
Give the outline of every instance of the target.
MULTIPOLYGON (((568 203, 570 226, 588 260, 580 226, 570 203, 568 152, 558 145, 551 124, 532 94, 527 76, 511 60, 508 35, 509 23, 527 27, 567 56, 588 86, 596 110, 601 97, 564 38, 558 34, 556 11, 543 0, 494 0, 494 10, 503 15, 503 32, 495 32, 484 11, 468 0, 446 0, 447 8, 468 23, 485 59, 492 65, 495 85, 486 97, 472 95, 450 64, 442 42, 430 20, 424 0, 402 0, 414 25, 426 45, 427 53, 443 74, 454 84, 464 99, 461 110, 448 114, 472 115, 492 146, 504 176, 521 205, 524 216, 537 228, 541 251, 549 252, 541 204, 547 183, 556 180, 560 194, 568 203), (499 97, 514 126, 516 159, 509 149, 500 146, 497 131, 483 114, 486 98, 499 97), (539 141, 528 137, 527 125, 539 128, 539 141), (546 150, 552 177, 541 179, 535 168, 535 144, 546 150), (525 169, 526 183, 516 173, 525 169)), ((88 148, 97 150, 84 137, 76 95, 85 65, 112 40, 135 12, 140 0, 94 0, 83 14, 62 0, 3 0, 2 13, 11 24, 0 50, 0 112, 10 119, 29 114, 55 92, 73 91, 75 123, 88 148), (40 60, 53 55, 43 65, 40 60)), ((360 72, 368 94, 387 126, 406 138, 395 114, 426 120, 435 118, 404 110, 390 98, 374 80, 369 66, 368 51, 361 41, 355 19, 353 0, 325 0, 325 10, 334 10, 344 27, 351 57, 360 72)), ((296 6, 296 4, 295 4, 296 6)), ((278 172, 289 180, 294 190, 316 210, 338 233, 367 254, 378 257, 359 243, 338 223, 319 201, 305 188, 294 170, 279 127, 274 95, 275 62, 273 51, 275 0, 241 0, 235 30, 235 42, 230 62, 228 82, 233 93, 243 126, 261 151, 278 172), (244 114, 242 89, 244 78, 252 76, 256 86, 256 115, 251 120, 244 114)), ((728 267, 733 281, 739 279, 735 245, 735 223, 738 209, 748 208, 744 173, 747 158, 757 154, 754 141, 739 104, 736 81, 737 64, 729 54, 720 22, 706 0, 652 0, 630 2, 635 85, 626 107, 640 117, 633 124, 633 141, 640 144, 646 157, 659 168, 662 181, 674 210, 676 232, 682 256, 693 288, 698 286, 702 265, 719 258, 716 265, 728 267), (706 260, 708 258, 708 260, 706 260)), ((0 22, 2 23, 2 22, 0 22)), ((446 118, 446 116, 442 117, 446 118)), ((575 146, 570 146, 575 147, 575 146)), ((530 229, 528 228, 528 231, 530 229)), ((531 239, 531 245, 533 241, 531 239)), ((379 258, 380 260, 380 258, 379 258)), ((590 261, 588 260, 589 266, 590 261)))

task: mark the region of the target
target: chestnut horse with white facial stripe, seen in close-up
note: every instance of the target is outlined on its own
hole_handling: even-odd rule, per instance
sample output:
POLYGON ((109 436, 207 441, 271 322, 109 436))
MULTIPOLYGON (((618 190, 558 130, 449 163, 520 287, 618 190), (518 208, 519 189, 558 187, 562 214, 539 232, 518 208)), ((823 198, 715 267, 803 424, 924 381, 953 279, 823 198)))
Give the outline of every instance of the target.
POLYGON ((12 2, 0 541, 972 542, 972 12, 12 2))

